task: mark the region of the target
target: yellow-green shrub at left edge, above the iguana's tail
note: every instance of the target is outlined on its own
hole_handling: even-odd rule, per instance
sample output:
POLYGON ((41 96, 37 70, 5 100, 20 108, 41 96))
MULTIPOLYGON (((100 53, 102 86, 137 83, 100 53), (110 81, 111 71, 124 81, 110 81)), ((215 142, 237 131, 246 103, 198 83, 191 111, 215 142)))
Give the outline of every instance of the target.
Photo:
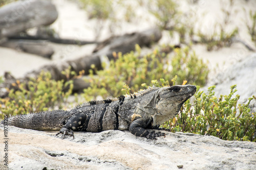
POLYGON ((61 109, 73 88, 72 81, 64 83, 52 80, 50 72, 41 72, 37 79, 30 79, 27 84, 17 81, 16 85, 18 91, 12 89, 8 98, 0 99, 1 119, 4 115, 61 109), (62 89, 67 87, 68 90, 63 92, 62 89))

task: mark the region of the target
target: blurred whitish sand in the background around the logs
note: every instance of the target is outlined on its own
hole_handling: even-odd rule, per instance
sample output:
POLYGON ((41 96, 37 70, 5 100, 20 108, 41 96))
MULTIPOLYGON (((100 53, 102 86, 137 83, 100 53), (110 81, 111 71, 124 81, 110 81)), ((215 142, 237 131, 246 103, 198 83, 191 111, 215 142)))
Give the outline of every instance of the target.
MULTIPOLYGON (((56 5, 59 12, 58 19, 53 23, 52 27, 60 37, 94 40, 95 32, 93 29, 95 25, 97 25, 97 22, 95 20, 88 20, 88 16, 83 9, 69 0, 53 0, 52 2, 56 5)), ((198 4, 191 5, 186 3, 186 1, 182 1, 181 7, 184 12, 187 12, 189 9, 194 11, 192 14, 195 16, 195 27, 200 28, 202 32, 211 34, 216 21, 223 17, 221 9, 227 8, 228 2, 227 0, 210 2, 199 1, 198 4)), ((256 10, 256 1, 234 1, 232 11, 237 12, 234 12, 234 15, 231 16, 229 26, 230 28, 239 27, 239 38, 255 48, 245 26, 244 16, 249 10, 256 10)), ((140 20, 137 18, 133 23, 120 23, 117 34, 142 31, 155 26, 152 17, 146 18, 145 15, 143 15, 143 8, 140 8, 138 11, 137 15, 141 16, 139 17, 140 20)), ((227 28, 227 30, 230 28, 227 28)), ((109 36, 110 33, 108 33, 108 31, 103 31, 99 39, 102 40, 109 36)), ((170 38, 168 34, 164 34, 159 44, 175 44, 175 41, 176 40, 170 38)), ((90 54, 95 47, 94 44, 76 46, 50 43, 49 45, 53 46, 55 49, 52 60, 0 47, 0 76, 3 76, 5 71, 10 71, 16 78, 22 77, 31 69, 36 69, 50 62, 59 62, 60 60, 73 59, 90 54)), ((231 47, 224 47, 218 51, 211 52, 207 52, 204 45, 193 45, 193 50, 204 61, 208 61, 209 68, 212 70, 210 77, 216 73, 214 70, 217 70, 217 72, 223 70, 228 67, 228 65, 236 63, 252 53, 240 43, 234 43, 231 47), (216 65, 219 66, 217 67, 216 65)))

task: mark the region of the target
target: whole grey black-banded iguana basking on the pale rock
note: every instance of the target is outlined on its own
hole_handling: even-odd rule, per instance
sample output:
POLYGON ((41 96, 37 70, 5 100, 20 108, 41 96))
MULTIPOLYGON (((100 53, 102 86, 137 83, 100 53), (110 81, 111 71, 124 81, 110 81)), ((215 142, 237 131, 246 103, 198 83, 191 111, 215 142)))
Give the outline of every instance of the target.
MULTIPOLYGON (((101 132, 129 130, 136 136, 156 139, 165 133, 148 131, 173 118, 183 103, 193 96, 193 85, 151 87, 134 94, 102 101, 90 101, 71 110, 54 110, 17 115, 8 118, 8 125, 42 131, 59 131, 73 136, 73 131, 101 132)), ((3 122, 2 122, 3 123, 3 122)))

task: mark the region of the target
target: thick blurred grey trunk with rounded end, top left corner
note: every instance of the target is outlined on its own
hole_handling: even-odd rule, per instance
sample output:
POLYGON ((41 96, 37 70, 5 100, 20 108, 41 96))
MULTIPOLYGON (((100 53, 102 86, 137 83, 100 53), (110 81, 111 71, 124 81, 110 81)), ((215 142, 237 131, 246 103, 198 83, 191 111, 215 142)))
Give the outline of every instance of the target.
POLYGON ((58 12, 50 1, 26 0, 5 5, 0 8, 0 39, 50 25, 57 17, 58 12))

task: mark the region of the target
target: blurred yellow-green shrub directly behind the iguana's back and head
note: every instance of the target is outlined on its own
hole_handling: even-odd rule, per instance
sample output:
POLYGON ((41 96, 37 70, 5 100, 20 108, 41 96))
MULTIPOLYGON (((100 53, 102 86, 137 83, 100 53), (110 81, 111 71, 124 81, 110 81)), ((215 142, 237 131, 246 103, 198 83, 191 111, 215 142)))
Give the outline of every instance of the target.
MULTIPOLYGON (((166 57, 164 53, 155 50, 153 53, 140 56, 140 47, 136 45, 136 52, 117 54, 116 61, 111 61, 109 68, 91 70, 91 86, 84 89, 84 98, 93 100, 100 95, 103 98, 125 94, 124 84, 131 88, 131 92, 138 91, 143 83, 151 84, 151 80, 161 78, 170 80, 178 75, 177 83, 182 84, 187 80, 190 84, 204 85, 207 80, 208 67, 188 47, 175 49, 172 58, 166 57)), ((104 67, 104 66, 103 66, 104 67)))

